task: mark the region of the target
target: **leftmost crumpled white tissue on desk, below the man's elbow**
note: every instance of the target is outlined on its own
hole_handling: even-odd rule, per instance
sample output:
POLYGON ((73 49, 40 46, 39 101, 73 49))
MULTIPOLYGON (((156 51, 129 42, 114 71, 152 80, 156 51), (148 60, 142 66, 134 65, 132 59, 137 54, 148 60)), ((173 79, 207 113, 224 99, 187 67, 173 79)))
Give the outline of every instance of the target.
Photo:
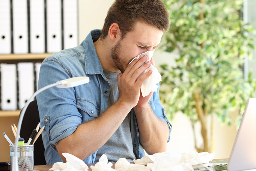
POLYGON ((56 162, 52 165, 49 170, 60 170, 60 171, 88 171, 88 166, 85 162, 76 156, 69 153, 62 153, 66 158, 67 162, 56 162))

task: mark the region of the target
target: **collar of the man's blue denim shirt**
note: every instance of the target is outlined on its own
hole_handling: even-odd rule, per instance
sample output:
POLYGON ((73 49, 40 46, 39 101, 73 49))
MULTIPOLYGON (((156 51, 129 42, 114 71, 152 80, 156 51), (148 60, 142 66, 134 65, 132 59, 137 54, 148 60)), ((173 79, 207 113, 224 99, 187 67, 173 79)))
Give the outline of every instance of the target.
POLYGON ((99 39, 101 30, 92 30, 85 40, 82 42, 83 51, 85 54, 85 73, 86 74, 101 74, 105 80, 107 78, 103 74, 101 61, 94 47, 94 42, 99 39))

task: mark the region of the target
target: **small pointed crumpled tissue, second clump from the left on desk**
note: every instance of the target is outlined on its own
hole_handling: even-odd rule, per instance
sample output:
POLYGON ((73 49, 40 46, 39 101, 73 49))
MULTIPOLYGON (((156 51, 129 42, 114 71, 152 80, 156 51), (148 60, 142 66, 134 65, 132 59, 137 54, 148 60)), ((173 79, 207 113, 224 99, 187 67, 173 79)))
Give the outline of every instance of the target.
POLYGON ((112 169, 112 163, 108 163, 108 158, 105 154, 103 154, 99 162, 96 163, 94 166, 91 166, 92 171, 115 171, 115 169, 112 169))

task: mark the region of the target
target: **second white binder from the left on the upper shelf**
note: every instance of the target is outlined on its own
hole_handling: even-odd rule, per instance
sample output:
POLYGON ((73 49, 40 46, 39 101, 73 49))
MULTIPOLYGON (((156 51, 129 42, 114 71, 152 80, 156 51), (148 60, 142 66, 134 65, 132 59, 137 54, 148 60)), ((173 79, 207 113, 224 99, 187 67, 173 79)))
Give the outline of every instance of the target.
POLYGON ((12 0, 13 52, 28 53, 27 0, 12 0))

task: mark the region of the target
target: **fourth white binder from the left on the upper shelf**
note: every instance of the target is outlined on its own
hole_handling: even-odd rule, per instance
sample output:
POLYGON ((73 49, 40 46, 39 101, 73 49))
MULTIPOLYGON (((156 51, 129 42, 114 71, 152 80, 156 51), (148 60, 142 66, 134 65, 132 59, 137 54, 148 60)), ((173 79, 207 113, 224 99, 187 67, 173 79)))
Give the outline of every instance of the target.
POLYGON ((46 0, 47 52, 61 48, 61 0, 46 0))

